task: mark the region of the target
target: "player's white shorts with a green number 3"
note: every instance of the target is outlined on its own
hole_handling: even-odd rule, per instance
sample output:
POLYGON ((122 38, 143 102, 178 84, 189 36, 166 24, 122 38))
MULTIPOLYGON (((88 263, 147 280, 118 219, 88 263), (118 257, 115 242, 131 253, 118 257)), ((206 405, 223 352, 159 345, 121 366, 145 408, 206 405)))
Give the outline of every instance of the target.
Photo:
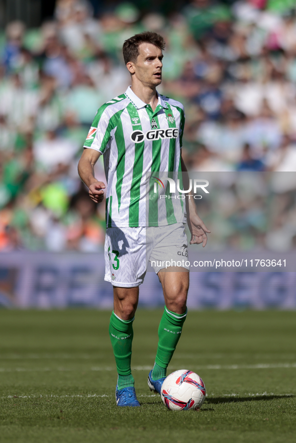
POLYGON ((148 261, 158 273, 170 263, 189 270, 187 260, 187 237, 183 223, 107 228, 105 280, 114 286, 139 286, 143 283, 148 261))

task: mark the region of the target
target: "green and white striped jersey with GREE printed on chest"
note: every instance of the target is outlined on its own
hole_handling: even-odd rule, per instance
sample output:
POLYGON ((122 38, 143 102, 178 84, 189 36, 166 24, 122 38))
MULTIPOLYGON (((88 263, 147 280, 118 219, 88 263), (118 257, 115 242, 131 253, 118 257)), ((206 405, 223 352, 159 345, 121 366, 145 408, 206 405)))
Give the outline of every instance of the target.
POLYGON ((151 180, 164 176, 159 171, 181 171, 184 121, 179 101, 158 94, 153 112, 130 86, 99 108, 84 147, 104 154, 107 227, 186 222, 184 200, 169 194, 168 181, 160 198, 151 180))

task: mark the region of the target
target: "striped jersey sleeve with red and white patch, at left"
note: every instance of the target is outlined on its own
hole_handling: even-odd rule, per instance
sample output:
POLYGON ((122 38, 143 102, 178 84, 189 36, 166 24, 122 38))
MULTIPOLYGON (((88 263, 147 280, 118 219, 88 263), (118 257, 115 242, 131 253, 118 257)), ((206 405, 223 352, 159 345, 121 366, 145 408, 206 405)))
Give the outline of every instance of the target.
POLYGON ((103 105, 98 109, 83 146, 91 147, 103 154, 109 147, 110 136, 110 117, 106 111, 106 106, 103 105))

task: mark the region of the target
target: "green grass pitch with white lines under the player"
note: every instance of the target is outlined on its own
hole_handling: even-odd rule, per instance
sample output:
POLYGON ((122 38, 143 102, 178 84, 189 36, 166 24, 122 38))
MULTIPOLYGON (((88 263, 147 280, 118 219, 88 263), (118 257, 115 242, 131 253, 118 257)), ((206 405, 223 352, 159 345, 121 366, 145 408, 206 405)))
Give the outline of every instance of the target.
POLYGON ((295 442, 296 312, 189 312, 169 366, 204 380, 200 411, 151 395, 161 310, 139 310, 132 368, 139 408, 115 403, 109 312, 0 310, 0 441, 295 442))

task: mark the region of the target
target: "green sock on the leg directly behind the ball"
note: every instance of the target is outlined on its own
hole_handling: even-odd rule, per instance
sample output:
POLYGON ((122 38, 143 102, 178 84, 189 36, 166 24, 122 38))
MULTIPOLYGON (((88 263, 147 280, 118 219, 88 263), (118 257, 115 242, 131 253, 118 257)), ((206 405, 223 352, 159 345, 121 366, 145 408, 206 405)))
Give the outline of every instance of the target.
POLYGON ((187 309, 184 314, 177 314, 164 306, 164 312, 158 328, 158 346, 152 370, 152 378, 154 380, 166 376, 166 368, 176 349, 186 315, 187 309))

